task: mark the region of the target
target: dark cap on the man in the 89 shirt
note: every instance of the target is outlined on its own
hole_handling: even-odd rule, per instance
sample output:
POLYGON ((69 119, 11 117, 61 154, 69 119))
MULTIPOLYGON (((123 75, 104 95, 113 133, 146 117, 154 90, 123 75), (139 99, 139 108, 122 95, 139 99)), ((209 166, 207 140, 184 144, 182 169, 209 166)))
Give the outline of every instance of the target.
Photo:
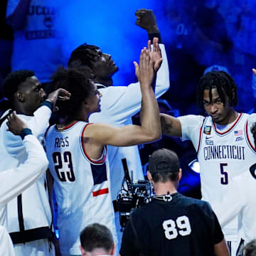
POLYGON ((149 156, 149 172, 176 172, 180 168, 178 156, 169 149, 157 149, 149 156))

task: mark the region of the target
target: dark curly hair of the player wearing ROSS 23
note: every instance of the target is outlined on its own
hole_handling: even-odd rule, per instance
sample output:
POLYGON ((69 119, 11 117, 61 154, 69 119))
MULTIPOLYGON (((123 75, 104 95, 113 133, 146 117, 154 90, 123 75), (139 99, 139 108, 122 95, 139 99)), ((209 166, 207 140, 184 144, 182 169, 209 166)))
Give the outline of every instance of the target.
POLYGON ((70 100, 57 101, 58 116, 73 119, 80 111, 82 102, 90 96, 94 89, 93 82, 84 70, 60 67, 51 76, 53 90, 63 88, 71 93, 70 100))

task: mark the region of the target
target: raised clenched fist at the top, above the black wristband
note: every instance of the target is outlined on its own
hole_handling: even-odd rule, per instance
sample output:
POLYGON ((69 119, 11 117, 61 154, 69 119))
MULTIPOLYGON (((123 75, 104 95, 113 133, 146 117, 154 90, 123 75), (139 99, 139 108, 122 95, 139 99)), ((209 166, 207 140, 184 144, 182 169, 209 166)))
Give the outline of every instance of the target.
POLYGON ((137 26, 146 29, 148 33, 159 33, 154 11, 149 9, 139 9, 136 11, 135 16, 137 16, 137 26))

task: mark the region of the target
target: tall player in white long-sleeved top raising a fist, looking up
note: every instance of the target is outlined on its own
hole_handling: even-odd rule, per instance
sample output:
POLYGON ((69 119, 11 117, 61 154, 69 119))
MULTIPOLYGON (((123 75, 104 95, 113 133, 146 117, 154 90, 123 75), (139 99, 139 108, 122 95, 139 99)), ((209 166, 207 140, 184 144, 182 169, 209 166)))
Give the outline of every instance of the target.
MULTIPOLYGON (((169 67, 166 50, 161 40, 154 11, 139 9, 136 11, 135 16, 137 16, 136 25, 143 28, 148 33, 149 40, 151 40, 151 55, 154 55, 154 58, 163 58, 161 68, 159 68, 156 75, 155 95, 158 98, 169 89, 169 67), (156 37, 155 41, 153 41, 154 37, 156 37)), ((92 79, 102 94, 101 111, 92 113, 89 121, 110 124, 115 127, 132 124, 132 116, 137 114, 142 106, 142 93, 140 92, 139 82, 134 82, 127 86, 113 86, 112 76, 117 73, 118 67, 112 60, 111 55, 102 53, 97 46, 84 44, 73 50, 68 66, 72 68, 74 65, 75 68, 87 68, 90 70, 92 79)), ((122 85, 126 85, 126 82, 122 82, 122 85)), ((112 201, 116 203, 117 193, 122 186, 122 179, 124 178, 122 159, 127 159, 128 170, 129 172, 133 171, 135 180, 144 179, 142 161, 137 145, 125 147, 107 146, 107 151, 109 152, 112 201)))

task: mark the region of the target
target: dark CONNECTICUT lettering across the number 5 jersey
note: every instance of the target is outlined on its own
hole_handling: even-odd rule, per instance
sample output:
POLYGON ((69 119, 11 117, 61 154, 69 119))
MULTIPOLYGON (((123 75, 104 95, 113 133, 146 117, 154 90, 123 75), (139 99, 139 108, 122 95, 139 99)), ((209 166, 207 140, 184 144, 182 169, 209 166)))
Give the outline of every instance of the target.
POLYGON ((238 159, 245 160, 245 147, 235 145, 206 146, 203 148, 205 160, 238 159))

